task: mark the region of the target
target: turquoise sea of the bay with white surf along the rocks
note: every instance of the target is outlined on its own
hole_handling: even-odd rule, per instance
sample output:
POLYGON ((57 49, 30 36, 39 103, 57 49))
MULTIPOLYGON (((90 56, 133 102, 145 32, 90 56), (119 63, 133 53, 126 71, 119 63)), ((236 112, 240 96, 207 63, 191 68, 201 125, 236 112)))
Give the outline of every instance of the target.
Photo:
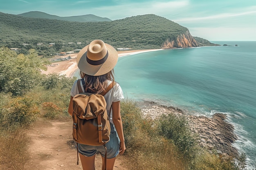
POLYGON ((225 113, 256 165, 256 42, 213 42, 230 46, 170 49, 120 57, 115 80, 126 98, 155 101, 192 115, 225 113), (238 46, 235 46, 238 44, 238 46))

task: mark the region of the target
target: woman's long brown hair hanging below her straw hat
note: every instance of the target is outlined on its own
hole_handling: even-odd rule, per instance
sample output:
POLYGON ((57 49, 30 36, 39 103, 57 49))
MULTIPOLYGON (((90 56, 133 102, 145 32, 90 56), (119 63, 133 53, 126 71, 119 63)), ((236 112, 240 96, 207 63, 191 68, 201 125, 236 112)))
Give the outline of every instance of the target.
POLYGON ((114 69, 112 69, 110 72, 104 75, 99 75, 99 76, 87 75, 82 71, 80 71, 79 74, 81 78, 84 78, 85 80, 85 92, 88 92, 88 93, 102 92, 108 86, 108 82, 106 80, 111 80, 113 82, 115 81, 115 78, 113 76, 114 69))

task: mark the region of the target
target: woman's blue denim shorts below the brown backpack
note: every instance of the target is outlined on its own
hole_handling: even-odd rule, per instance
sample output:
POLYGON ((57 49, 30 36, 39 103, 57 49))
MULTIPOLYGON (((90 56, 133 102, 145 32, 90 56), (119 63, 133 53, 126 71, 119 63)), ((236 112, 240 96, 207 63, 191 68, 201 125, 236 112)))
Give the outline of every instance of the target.
MULTIPOLYGON (((107 148, 107 159, 116 157, 119 154, 119 144, 120 140, 117 136, 117 131, 115 126, 110 123, 110 140, 105 144, 107 148)), ((98 150, 102 157, 105 157, 106 149, 104 146, 90 146, 85 144, 77 144, 78 152, 86 157, 91 157, 95 155, 98 150)))

